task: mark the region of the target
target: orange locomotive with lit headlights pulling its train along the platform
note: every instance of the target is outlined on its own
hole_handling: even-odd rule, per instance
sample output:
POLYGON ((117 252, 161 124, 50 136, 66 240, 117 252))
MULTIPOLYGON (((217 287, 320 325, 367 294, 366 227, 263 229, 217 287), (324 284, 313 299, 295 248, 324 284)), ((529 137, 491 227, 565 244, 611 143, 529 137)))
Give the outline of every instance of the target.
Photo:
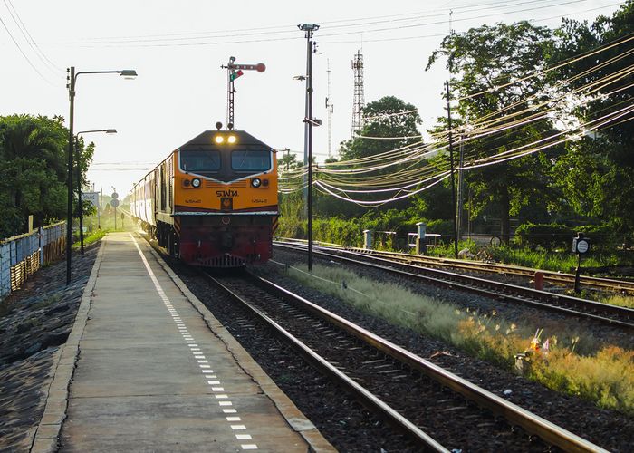
POLYGON ((244 130, 206 130, 172 151, 130 192, 130 211, 189 265, 264 263, 277 226, 274 149, 244 130))

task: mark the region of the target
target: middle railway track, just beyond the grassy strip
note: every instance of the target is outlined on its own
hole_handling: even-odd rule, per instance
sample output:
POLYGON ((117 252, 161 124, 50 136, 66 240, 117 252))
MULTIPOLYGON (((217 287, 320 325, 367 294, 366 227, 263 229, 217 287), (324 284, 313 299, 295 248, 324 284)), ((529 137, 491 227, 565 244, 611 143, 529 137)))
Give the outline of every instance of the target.
MULTIPOLYGON (((276 243, 275 246, 301 253, 306 252, 303 246, 283 245, 280 243, 276 243)), ((355 253, 350 250, 328 249, 328 251, 325 251, 319 249, 313 250, 313 254, 354 265, 370 266, 389 274, 423 281, 426 284, 476 293, 510 303, 532 305, 540 309, 588 318, 600 323, 609 323, 620 328, 634 329, 634 309, 631 308, 600 304, 578 297, 553 294, 515 284, 505 284, 420 265, 399 263, 387 258, 355 253)))

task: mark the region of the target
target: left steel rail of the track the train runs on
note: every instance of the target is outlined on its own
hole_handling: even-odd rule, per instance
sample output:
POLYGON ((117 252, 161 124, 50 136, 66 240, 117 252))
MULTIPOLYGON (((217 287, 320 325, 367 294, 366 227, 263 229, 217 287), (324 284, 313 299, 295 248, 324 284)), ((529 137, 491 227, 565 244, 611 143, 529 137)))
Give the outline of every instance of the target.
MULTIPOLYGON (((230 288, 226 287, 215 277, 203 272, 208 279, 214 282, 216 286, 222 289, 226 294, 231 296, 236 302, 244 305, 247 310, 253 313, 258 319, 273 329, 275 333, 280 335, 286 342, 289 342, 293 347, 302 353, 303 357, 310 361, 315 367, 317 367, 322 373, 331 377, 341 387, 351 391, 357 398, 370 410, 378 412, 382 417, 388 419, 393 425, 397 426, 400 430, 405 432, 409 438, 414 439, 418 446, 423 447, 426 451, 440 451, 449 453, 447 448, 439 444, 435 439, 427 435, 422 429, 419 429, 414 423, 399 414, 398 411, 392 409, 388 404, 380 400, 377 396, 360 386, 357 382, 351 380, 345 373, 334 367, 329 361, 322 358, 321 355, 313 352, 308 346, 297 339, 292 333, 287 332, 283 327, 275 323, 269 316, 257 309, 254 305, 249 304, 238 294, 235 294, 230 288)), ((251 278, 257 279, 254 275, 250 275, 251 278)), ((258 282, 258 284, 262 284, 258 282)))

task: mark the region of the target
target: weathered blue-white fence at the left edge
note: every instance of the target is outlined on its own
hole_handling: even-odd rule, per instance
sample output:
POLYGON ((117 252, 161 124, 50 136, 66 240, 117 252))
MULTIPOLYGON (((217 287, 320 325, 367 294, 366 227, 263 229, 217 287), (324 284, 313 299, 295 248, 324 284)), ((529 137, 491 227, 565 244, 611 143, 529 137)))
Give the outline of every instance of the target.
POLYGON ((41 266, 64 254, 66 222, 0 241, 0 299, 17 290, 41 266))

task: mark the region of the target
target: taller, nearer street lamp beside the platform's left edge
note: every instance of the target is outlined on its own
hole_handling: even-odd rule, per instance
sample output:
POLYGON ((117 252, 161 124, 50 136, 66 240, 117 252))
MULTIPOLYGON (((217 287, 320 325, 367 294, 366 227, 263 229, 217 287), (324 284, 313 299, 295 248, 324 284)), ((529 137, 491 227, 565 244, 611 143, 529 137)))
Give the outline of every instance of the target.
POLYGON ((137 72, 133 69, 124 69, 120 71, 82 71, 75 73, 75 67, 71 66, 67 69, 66 88, 68 88, 68 97, 71 102, 71 112, 69 115, 68 128, 68 212, 66 214, 66 284, 71 283, 71 243, 72 243, 72 148, 74 145, 74 135, 72 126, 74 121, 75 109, 75 84, 80 74, 119 74, 122 77, 132 78, 137 76, 137 72))

